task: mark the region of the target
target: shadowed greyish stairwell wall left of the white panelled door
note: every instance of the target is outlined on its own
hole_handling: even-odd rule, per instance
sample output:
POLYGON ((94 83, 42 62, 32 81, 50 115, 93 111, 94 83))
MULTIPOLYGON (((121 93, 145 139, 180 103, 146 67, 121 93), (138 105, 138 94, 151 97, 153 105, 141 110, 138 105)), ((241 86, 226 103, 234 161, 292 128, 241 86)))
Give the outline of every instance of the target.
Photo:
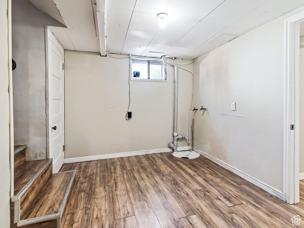
POLYGON ((14 139, 27 160, 47 157, 45 24, 61 24, 25 0, 12 0, 14 139))

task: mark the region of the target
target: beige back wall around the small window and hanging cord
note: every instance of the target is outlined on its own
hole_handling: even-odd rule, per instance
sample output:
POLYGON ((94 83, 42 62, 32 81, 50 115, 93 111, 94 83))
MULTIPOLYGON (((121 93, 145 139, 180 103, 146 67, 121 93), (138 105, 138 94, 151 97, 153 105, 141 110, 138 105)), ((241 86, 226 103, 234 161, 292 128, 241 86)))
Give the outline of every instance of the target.
MULTIPOLYGON (((192 71, 192 64, 182 67, 192 71)), ((168 82, 130 81, 132 119, 127 121, 129 59, 66 50, 65 158, 168 148, 173 141, 174 68, 167 69, 168 82)), ((188 134, 191 87, 192 74, 180 69, 181 134, 188 134)), ((186 140, 178 146, 187 146, 186 140)))

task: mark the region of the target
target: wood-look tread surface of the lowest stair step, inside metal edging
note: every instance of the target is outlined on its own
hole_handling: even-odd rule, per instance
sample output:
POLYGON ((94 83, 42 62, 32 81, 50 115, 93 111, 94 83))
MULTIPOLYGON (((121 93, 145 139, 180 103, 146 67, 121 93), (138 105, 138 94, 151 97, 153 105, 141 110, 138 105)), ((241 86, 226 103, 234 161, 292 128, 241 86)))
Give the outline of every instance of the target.
POLYGON ((73 172, 52 174, 36 199, 25 210, 21 220, 59 213, 73 172))

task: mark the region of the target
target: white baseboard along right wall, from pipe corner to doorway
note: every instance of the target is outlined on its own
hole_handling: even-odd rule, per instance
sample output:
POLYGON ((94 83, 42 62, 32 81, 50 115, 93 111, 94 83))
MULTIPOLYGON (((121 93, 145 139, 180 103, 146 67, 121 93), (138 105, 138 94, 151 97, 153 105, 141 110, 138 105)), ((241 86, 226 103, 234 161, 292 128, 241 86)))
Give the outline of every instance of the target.
MULTIPOLYGON (((254 178, 252 176, 250 176, 249 174, 234 168, 233 166, 219 160, 216 157, 213 157, 210 154, 205 153, 204 151, 193 147, 193 150, 199 154, 202 154, 204 157, 209 158, 211 161, 215 162, 216 164, 219 164, 220 166, 224 167, 225 169, 239 175, 240 177, 244 178, 245 180, 253 183, 254 185, 257 185, 258 187, 262 188, 263 190, 265 190, 266 192, 269 192, 271 195, 274 195, 276 197, 278 197, 279 199, 283 200, 283 192, 279 191, 276 188, 271 187, 270 185, 264 183, 263 181, 258 180, 257 178, 254 178)), ((304 173, 303 173, 303 179, 304 179, 304 173)))

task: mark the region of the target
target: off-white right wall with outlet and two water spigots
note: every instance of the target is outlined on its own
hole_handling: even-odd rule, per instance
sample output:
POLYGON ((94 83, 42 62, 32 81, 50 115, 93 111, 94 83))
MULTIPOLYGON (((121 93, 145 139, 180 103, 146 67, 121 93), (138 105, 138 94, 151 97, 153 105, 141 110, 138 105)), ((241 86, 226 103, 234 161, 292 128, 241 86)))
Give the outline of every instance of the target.
POLYGON ((283 190, 284 19, 195 59, 194 145, 283 190), (236 111, 231 111, 236 102, 236 111))

